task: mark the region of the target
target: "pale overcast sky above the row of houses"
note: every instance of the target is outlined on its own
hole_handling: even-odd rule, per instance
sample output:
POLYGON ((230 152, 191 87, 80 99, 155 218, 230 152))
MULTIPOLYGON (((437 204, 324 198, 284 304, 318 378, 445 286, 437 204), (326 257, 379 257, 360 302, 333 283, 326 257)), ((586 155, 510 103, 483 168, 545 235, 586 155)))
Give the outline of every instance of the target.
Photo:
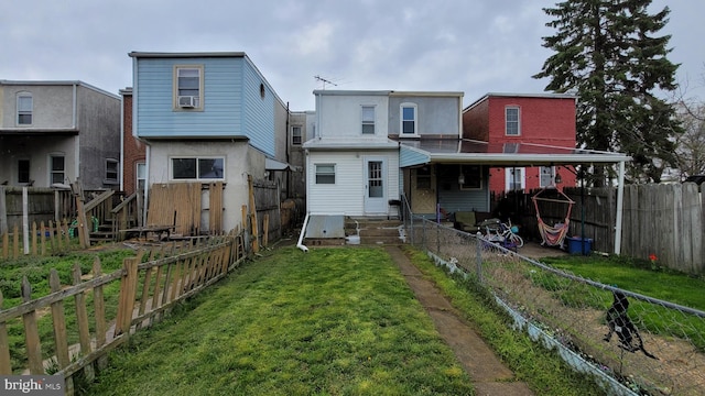
MULTIPOLYGON (((245 52, 292 110, 314 89, 542 92, 553 0, 3 0, 0 79, 132 86, 128 53, 245 52), (333 84, 317 80, 319 76, 333 84)), ((705 1, 666 3, 670 59, 705 101, 705 1)))

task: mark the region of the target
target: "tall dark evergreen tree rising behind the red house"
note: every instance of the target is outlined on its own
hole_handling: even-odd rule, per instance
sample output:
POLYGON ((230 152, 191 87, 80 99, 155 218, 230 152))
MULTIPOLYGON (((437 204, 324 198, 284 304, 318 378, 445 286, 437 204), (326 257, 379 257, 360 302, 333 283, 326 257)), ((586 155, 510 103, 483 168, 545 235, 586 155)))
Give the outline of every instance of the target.
MULTIPOLYGON (((567 0, 543 9, 555 35, 543 46, 555 52, 534 78, 549 77, 546 90, 578 96, 577 143, 592 150, 631 155, 632 183, 659 182, 675 165, 674 138, 682 132, 675 109, 655 96, 672 91, 679 65, 666 47, 671 36, 655 36, 669 8, 649 14, 651 0, 567 0)), ((603 186, 606 170, 593 184, 603 186)))

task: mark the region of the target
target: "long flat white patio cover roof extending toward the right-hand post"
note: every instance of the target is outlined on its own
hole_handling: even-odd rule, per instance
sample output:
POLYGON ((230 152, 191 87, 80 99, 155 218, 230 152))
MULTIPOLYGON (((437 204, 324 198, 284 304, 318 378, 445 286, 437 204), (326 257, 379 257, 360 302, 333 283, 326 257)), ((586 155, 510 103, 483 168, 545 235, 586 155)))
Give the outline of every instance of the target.
POLYGON ((487 143, 467 139, 400 141, 400 147, 402 167, 426 163, 509 167, 615 164, 631 161, 630 156, 622 153, 533 143, 487 143))

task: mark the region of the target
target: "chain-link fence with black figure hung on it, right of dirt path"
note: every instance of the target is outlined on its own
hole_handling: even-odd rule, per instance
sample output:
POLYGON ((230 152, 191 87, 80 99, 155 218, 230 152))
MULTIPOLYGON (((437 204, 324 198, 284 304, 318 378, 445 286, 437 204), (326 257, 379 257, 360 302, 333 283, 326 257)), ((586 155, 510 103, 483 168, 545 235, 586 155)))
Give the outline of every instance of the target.
POLYGON ((518 328, 603 378, 609 394, 705 394, 705 312, 558 271, 521 250, 405 215, 406 242, 479 282, 518 328))

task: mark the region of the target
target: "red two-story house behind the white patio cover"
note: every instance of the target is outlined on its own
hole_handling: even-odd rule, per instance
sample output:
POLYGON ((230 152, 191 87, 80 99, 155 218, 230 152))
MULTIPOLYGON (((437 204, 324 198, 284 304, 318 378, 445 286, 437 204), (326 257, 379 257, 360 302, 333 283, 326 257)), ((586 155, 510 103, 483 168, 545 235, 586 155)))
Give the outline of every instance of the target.
MULTIPOLYGON (((577 98, 561 94, 487 94, 463 110, 463 138, 503 145, 514 143, 575 147, 577 98)), ((555 185, 575 186, 576 176, 563 166, 491 167, 490 191, 531 190, 555 185), (561 172, 563 170, 563 172, 561 172)))

